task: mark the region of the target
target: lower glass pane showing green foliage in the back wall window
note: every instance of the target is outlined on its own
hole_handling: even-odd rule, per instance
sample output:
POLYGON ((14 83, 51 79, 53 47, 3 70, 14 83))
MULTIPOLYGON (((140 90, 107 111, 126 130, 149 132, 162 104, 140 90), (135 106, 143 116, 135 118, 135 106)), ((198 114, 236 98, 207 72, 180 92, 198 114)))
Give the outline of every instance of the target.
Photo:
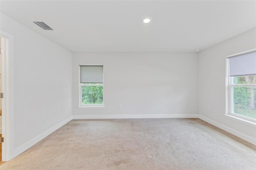
POLYGON ((82 105, 103 105, 103 87, 82 86, 82 105))

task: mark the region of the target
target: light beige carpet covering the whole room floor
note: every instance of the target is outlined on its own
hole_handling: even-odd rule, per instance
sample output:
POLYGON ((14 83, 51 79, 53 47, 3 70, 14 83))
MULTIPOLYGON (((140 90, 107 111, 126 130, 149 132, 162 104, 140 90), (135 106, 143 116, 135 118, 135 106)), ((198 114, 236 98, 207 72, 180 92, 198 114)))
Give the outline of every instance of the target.
POLYGON ((255 170, 256 146, 200 119, 72 120, 1 170, 255 170))

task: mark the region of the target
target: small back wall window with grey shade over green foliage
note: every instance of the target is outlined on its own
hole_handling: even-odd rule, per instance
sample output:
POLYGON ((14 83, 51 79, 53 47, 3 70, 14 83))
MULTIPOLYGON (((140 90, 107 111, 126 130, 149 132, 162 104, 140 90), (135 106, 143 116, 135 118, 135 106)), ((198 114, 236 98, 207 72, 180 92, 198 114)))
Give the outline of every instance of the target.
POLYGON ((103 106, 103 65, 80 65, 79 105, 103 106))

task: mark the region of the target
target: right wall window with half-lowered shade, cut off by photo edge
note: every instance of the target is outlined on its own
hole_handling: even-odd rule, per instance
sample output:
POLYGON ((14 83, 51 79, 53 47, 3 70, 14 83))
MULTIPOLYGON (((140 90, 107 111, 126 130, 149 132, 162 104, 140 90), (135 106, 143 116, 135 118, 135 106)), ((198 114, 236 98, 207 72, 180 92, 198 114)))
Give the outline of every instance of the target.
POLYGON ((229 114, 256 122, 256 51, 228 56, 229 114))

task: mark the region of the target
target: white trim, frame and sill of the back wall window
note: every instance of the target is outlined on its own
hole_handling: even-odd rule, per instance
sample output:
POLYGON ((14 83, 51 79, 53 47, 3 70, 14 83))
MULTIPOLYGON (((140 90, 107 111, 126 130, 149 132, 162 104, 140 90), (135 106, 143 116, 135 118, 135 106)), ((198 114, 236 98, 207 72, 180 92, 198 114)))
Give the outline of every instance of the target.
POLYGON ((97 64, 91 64, 91 65, 78 65, 79 67, 79 73, 78 73, 78 107, 77 109, 105 109, 105 105, 104 105, 104 65, 101 64, 101 65, 97 65, 97 64), (80 83, 80 73, 81 73, 81 67, 80 66, 103 66, 103 83, 102 85, 82 85, 82 83, 80 83), (102 95, 103 95, 103 104, 102 105, 83 105, 82 104, 82 87, 83 86, 102 86, 102 95))

